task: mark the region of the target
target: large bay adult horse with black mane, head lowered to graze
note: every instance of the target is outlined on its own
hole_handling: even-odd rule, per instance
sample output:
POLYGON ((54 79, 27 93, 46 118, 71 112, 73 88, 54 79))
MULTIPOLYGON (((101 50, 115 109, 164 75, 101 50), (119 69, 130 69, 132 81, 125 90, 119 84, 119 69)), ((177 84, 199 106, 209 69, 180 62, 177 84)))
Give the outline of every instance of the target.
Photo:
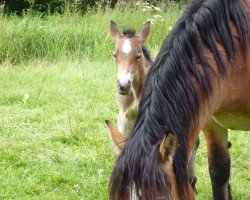
POLYGON ((185 9, 148 73, 111 200, 194 199, 188 160, 200 130, 213 199, 232 199, 228 129, 250 130, 249 26, 250 0, 194 0, 185 9))

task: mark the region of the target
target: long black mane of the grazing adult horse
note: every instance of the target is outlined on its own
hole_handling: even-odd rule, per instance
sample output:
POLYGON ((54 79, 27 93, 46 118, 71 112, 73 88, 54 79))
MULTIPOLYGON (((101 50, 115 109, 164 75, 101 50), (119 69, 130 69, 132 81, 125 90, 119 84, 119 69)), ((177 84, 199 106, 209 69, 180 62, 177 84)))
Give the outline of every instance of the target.
POLYGON ((218 78, 226 78, 225 58, 216 43, 234 62, 236 42, 231 28, 238 31, 242 52, 246 52, 247 22, 239 0, 194 0, 165 40, 150 69, 145 84, 136 125, 120 154, 110 179, 110 198, 123 199, 128 187, 141 190, 153 200, 157 191, 171 196, 168 177, 158 165, 159 144, 167 130, 176 133, 179 148, 174 156, 177 192, 186 199, 187 133, 199 112, 199 94, 191 78, 209 99, 214 75, 204 54, 207 48, 217 63, 218 78), (197 63, 201 68, 197 68, 197 63))

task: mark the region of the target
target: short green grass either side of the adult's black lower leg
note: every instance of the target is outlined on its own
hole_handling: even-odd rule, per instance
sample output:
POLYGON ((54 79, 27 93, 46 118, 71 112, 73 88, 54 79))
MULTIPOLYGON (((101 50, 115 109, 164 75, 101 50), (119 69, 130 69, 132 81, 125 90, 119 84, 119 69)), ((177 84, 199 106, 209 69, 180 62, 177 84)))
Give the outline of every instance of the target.
MULTIPOLYGON (((235 200, 250 199, 250 159, 249 159, 249 140, 250 135, 244 131, 230 131, 229 141, 232 147, 229 152, 231 155, 231 177, 230 184, 232 196, 235 200)), ((201 145, 197 151, 196 171, 198 177, 197 199, 212 199, 212 189, 208 173, 207 151, 203 134, 201 135, 201 145)))

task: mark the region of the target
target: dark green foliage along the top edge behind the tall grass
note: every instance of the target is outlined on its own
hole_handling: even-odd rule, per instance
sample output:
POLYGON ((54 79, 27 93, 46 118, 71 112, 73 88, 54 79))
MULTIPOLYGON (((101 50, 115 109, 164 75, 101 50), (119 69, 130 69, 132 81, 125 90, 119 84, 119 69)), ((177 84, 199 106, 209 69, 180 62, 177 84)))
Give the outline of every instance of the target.
MULTIPOLYGON (((182 0, 166 1, 161 0, 139 0, 138 2, 149 3, 151 5, 166 5, 170 2, 182 2, 182 0)), ((186 0, 184 0, 186 2, 186 0)), ((0 5, 4 5, 5 13, 16 13, 21 15, 28 10, 40 13, 63 13, 65 10, 81 10, 85 13, 89 9, 114 8, 117 4, 133 7, 132 0, 0 0, 0 5)))

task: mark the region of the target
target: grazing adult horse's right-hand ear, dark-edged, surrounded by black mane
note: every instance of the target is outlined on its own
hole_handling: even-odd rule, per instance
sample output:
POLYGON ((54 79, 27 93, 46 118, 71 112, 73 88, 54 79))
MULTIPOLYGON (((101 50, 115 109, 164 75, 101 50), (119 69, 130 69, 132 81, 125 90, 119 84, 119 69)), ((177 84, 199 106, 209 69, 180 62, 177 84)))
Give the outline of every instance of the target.
POLYGON ((163 162, 172 161, 177 147, 178 139, 176 134, 172 131, 168 131, 165 137, 163 138, 159 148, 160 160, 163 162))

